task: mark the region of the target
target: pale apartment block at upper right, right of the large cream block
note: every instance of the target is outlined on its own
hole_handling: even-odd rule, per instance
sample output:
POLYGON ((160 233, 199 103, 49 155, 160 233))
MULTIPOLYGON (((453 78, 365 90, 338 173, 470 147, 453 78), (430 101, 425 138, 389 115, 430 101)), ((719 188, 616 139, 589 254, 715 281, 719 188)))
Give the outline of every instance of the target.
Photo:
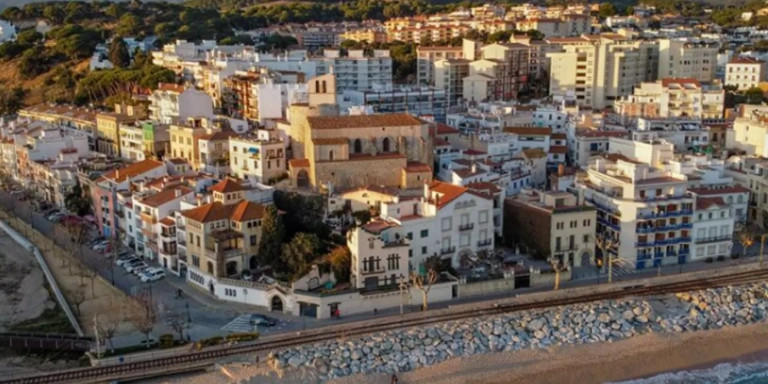
POLYGON ((659 77, 692 78, 701 82, 715 79, 717 52, 714 41, 659 39, 659 77))

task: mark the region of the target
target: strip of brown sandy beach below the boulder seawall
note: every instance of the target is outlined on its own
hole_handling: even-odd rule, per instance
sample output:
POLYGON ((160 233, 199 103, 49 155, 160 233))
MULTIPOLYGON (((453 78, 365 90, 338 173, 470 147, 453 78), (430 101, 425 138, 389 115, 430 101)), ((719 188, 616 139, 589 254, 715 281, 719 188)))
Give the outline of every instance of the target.
MULTIPOLYGON (((734 360, 768 349, 765 323, 680 335, 647 334, 615 343, 562 346, 454 359, 398 375, 399 384, 605 383, 734 360)), ((334 384, 384 384, 357 375, 334 384)))

